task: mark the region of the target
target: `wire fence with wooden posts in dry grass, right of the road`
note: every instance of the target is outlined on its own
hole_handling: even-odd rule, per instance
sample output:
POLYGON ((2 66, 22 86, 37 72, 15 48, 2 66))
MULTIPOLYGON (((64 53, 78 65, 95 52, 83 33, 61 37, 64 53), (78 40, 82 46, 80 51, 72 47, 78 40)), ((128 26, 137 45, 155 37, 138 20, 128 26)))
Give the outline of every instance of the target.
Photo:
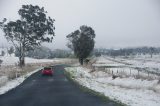
POLYGON ((103 71, 117 77, 134 77, 140 79, 160 79, 160 74, 146 68, 118 67, 118 66, 92 66, 92 70, 103 71))

